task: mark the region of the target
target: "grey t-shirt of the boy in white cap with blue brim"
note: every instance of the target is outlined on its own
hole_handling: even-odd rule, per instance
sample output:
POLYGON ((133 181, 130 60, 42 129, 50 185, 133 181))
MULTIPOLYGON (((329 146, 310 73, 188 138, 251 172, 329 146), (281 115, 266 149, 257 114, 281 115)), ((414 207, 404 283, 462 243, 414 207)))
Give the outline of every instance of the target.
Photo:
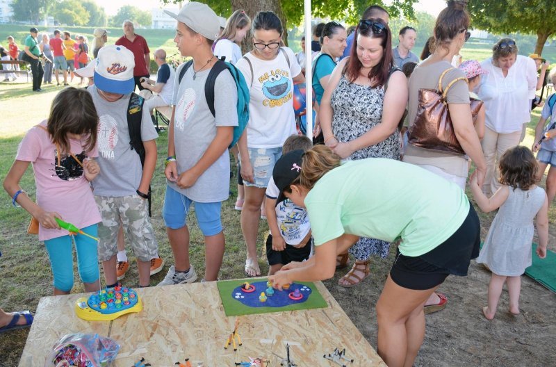
MULTIPOLYGON (((100 174, 92 181, 93 193, 101 196, 122 197, 136 195, 142 177, 139 154, 129 146, 127 107, 131 94, 108 102, 99 95, 97 87, 87 88, 99 115, 97 146, 100 174)), ((149 110, 143 108, 141 140, 158 138, 149 110)))

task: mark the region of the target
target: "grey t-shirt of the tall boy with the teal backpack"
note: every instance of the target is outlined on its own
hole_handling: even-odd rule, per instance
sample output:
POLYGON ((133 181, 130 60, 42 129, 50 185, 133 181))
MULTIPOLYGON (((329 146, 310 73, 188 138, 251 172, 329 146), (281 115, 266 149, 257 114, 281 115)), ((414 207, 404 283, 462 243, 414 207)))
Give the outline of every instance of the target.
MULTIPOLYGON (((238 90, 227 70, 218 74, 214 85, 213 116, 204 95, 204 83, 209 70, 197 72, 193 79, 193 66, 179 83, 179 74, 185 64, 176 70, 172 105, 174 113, 174 145, 178 174, 192 168, 206 152, 216 137, 216 127, 238 126, 238 90)), ((206 169, 190 188, 168 185, 194 202, 222 202, 228 199, 230 184, 230 159, 226 149, 213 165, 206 169)))

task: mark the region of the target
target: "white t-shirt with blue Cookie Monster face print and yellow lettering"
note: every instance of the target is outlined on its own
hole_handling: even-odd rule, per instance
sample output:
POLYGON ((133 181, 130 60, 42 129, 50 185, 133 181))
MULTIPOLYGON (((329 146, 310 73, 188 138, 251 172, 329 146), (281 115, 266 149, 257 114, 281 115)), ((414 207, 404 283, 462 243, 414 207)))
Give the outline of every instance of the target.
POLYGON ((293 77, 301 72, 295 54, 288 47, 281 47, 274 60, 261 60, 248 53, 253 72, 247 60, 241 58, 236 67, 250 85, 249 122, 247 147, 277 148, 284 145, 288 136, 295 134, 293 111, 293 77))

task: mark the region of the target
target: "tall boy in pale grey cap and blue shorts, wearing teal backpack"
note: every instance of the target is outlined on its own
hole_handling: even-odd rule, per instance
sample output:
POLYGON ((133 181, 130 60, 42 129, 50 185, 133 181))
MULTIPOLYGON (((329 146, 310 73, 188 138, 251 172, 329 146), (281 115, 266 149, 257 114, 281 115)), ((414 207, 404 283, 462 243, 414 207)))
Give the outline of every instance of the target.
MULTIPOLYGON (((195 205, 197 222, 205 240, 205 276, 218 279, 224 256, 224 232, 220 209, 229 196, 230 163, 228 145, 238 125, 237 88, 229 72, 215 79, 214 114, 206 102, 204 85, 217 63, 211 46, 220 31, 218 16, 203 3, 190 2, 178 14, 174 42, 181 56, 193 58, 180 83, 182 64, 176 70, 172 97, 172 121, 168 129, 167 178, 163 218, 174 254, 170 268, 159 286, 195 282, 197 274, 189 261, 189 231, 186 216, 195 205)), ((221 61, 218 61, 221 62, 221 61)))

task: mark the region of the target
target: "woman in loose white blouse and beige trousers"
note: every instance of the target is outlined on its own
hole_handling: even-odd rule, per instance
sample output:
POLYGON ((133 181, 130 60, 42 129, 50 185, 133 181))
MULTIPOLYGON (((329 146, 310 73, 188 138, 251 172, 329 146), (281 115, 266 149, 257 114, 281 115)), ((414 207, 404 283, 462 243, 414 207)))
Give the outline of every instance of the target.
POLYGON ((492 57, 481 63, 481 67, 489 72, 482 78, 478 93, 486 111, 481 144, 486 160, 482 191, 487 196, 500 188, 500 157, 523 140, 525 124, 531 121, 530 108, 537 89, 537 67, 532 58, 518 55, 517 52, 514 40, 502 38, 492 48, 492 57))

